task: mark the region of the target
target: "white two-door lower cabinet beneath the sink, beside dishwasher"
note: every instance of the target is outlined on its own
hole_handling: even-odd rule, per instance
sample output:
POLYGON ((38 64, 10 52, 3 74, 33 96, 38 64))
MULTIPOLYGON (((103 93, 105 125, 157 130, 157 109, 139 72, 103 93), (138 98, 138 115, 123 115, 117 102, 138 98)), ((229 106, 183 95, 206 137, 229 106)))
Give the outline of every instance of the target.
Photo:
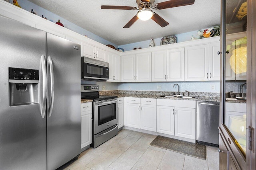
POLYGON ((196 139, 196 101, 157 99, 159 133, 196 139))

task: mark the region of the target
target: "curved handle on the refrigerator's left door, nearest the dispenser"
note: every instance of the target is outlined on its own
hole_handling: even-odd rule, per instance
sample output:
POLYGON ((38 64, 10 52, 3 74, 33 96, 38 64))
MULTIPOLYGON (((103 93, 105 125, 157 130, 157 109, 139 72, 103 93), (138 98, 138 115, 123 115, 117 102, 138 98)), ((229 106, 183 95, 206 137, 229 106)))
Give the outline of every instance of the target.
POLYGON ((46 112, 46 89, 47 89, 47 76, 46 76, 46 60, 44 55, 41 56, 40 60, 41 66, 42 66, 42 78, 43 78, 43 100, 42 100, 42 105, 40 105, 40 111, 41 111, 41 116, 44 118, 45 112, 46 112))

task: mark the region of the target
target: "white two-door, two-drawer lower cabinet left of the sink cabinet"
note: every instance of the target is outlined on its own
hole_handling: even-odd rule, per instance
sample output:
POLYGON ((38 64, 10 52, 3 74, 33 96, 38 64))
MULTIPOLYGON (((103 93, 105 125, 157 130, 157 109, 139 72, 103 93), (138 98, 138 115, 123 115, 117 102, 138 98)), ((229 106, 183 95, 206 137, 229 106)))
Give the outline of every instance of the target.
POLYGON ((124 125, 156 132, 156 99, 124 98, 124 125))

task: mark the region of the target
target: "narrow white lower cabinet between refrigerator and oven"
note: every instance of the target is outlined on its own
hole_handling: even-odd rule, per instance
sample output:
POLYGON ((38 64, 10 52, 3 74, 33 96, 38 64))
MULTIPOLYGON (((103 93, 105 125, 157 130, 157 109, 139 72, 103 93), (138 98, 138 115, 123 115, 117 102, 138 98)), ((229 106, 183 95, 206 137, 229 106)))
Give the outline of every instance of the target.
POLYGON ((92 102, 81 104, 81 149, 92 143, 92 102))

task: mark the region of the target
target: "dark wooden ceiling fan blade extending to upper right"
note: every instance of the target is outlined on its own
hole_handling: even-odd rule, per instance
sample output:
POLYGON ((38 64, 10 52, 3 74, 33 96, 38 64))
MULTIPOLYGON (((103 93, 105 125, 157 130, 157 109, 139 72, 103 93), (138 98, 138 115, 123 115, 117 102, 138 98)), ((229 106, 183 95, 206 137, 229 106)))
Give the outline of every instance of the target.
POLYGON ((194 4, 195 0, 169 0, 166 2, 160 2, 154 5, 156 10, 162 10, 166 8, 173 8, 177 6, 185 6, 194 4))

